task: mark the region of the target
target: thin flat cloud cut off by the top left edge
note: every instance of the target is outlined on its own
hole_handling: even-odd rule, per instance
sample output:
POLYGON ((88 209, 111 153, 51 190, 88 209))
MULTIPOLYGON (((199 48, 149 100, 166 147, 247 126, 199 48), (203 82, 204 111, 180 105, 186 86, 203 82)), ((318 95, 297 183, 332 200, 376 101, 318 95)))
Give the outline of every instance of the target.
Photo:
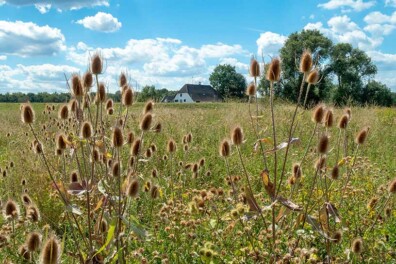
POLYGON ((0 5, 35 6, 40 13, 46 13, 51 8, 58 11, 76 10, 84 7, 109 6, 109 0, 0 0, 0 5))

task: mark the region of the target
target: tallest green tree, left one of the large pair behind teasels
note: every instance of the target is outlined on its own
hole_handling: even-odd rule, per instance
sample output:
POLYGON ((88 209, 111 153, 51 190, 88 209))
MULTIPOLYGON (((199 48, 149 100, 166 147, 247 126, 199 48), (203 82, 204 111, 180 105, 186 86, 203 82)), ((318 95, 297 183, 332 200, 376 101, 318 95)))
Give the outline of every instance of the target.
MULTIPOLYGON (((333 43, 318 30, 302 30, 291 34, 280 50, 282 61, 282 79, 279 95, 297 101, 303 75, 298 71, 298 60, 304 50, 311 51, 316 67, 320 68, 329 58, 333 43)), ((325 72, 321 71, 321 75, 325 72)), ((311 87, 309 101, 319 101, 326 97, 331 80, 324 76, 316 89, 311 87)), ((304 91, 305 92, 305 91, 304 91)))

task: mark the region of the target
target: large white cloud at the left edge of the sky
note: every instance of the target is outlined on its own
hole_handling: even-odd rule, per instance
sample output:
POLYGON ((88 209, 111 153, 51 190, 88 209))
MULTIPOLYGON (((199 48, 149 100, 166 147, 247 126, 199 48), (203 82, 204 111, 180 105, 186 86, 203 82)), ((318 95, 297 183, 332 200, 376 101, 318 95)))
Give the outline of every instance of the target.
POLYGON ((65 37, 57 28, 32 22, 0 20, 0 52, 21 57, 54 55, 65 49, 65 37))

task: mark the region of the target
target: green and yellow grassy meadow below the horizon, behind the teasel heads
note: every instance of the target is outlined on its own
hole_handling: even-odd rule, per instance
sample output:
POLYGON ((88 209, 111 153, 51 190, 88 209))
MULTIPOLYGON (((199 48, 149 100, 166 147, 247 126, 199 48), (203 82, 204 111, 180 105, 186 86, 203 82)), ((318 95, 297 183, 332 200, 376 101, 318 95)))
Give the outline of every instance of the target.
MULTIPOLYGON (((21 121, 20 105, 0 104, 2 204, 6 208, 12 199, 20 208, 17 217, 3 209, 0 259, 38 261, 39 249, 23 251, 26 236, 36 231, 44 247, 51 238, 59 242, 62 263, 396 263, 396 195, 389 190, 396 176, 394 108, 352 108, 345 130, 337 127, 343 109, 334 108, 334 125, 318 124, 315 131, 312 110, 299 109, 293 134, 299 141, 289 150, 267 152, 266 171, 260 144, 254 148, 258 138, 264 151, 274 147, 266 101, 259 103, 258 113, 251 105, 253 117, 248 103, 155 104, 151 126, 160 122, 160 133, 142 133, 144 104, 134 104, 119 125, 125 142, 119 148, 112 139, 119 105, 111 116, 103 110, 102 136, 87 139, 78 137, 81 122, 75 115, 58 119, 60 105, 32 107, 32 128, 44 155, 31 149, 34 135, 21 121), (243 142, 231 144, 225 159, 219 145, 230 140, 237 125, 243 142), (356 150, 355 136, 367 126, 367 140, 356 150), (58 131, 69 136, 61 155, 55 154, 58 131), (143 141, 133 164, 126 142, 130 131, 143 141), (192 140, 183 143, 188 133, 192 140), (317 151, 323 136, 329 139, 326 155, 317 151), (169 149, 170 139, 175 151, 169 149), (93 156, 96 149, 101 160, 93 156), (321 157, 326 161, 318 167, 321 157), (295 163, 300 176, 292 172, 295 163), (335 164, 337 179, 331 177, 335 164), (75 170, 73 185, 69 175, 75 170), (271 184, 278 188, 276 196, 271 184), (23 204, 22 193, 30 204, 23 204), (40 211, 39 221, 29 218, 29 206, 40 211)), ((277 144, 288 141, 294 109, 275 101, 277 144)), ((84 110, 84 120, 95 120, 95 108, 90 111, 84 110)))

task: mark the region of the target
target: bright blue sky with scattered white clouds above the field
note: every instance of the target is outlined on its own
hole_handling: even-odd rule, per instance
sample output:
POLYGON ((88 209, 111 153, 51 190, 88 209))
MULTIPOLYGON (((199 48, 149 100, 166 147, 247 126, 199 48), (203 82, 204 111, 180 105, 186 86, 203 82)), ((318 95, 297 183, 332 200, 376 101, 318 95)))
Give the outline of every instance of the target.
POLYGON ((67 92, 100 51, 110 91, 209 83, 219 64, 249 81, 252 56, 276 56, 287 36, 317 29, 367 52, 396 91, 396 0, 0 0, 0 93, 67 92))

